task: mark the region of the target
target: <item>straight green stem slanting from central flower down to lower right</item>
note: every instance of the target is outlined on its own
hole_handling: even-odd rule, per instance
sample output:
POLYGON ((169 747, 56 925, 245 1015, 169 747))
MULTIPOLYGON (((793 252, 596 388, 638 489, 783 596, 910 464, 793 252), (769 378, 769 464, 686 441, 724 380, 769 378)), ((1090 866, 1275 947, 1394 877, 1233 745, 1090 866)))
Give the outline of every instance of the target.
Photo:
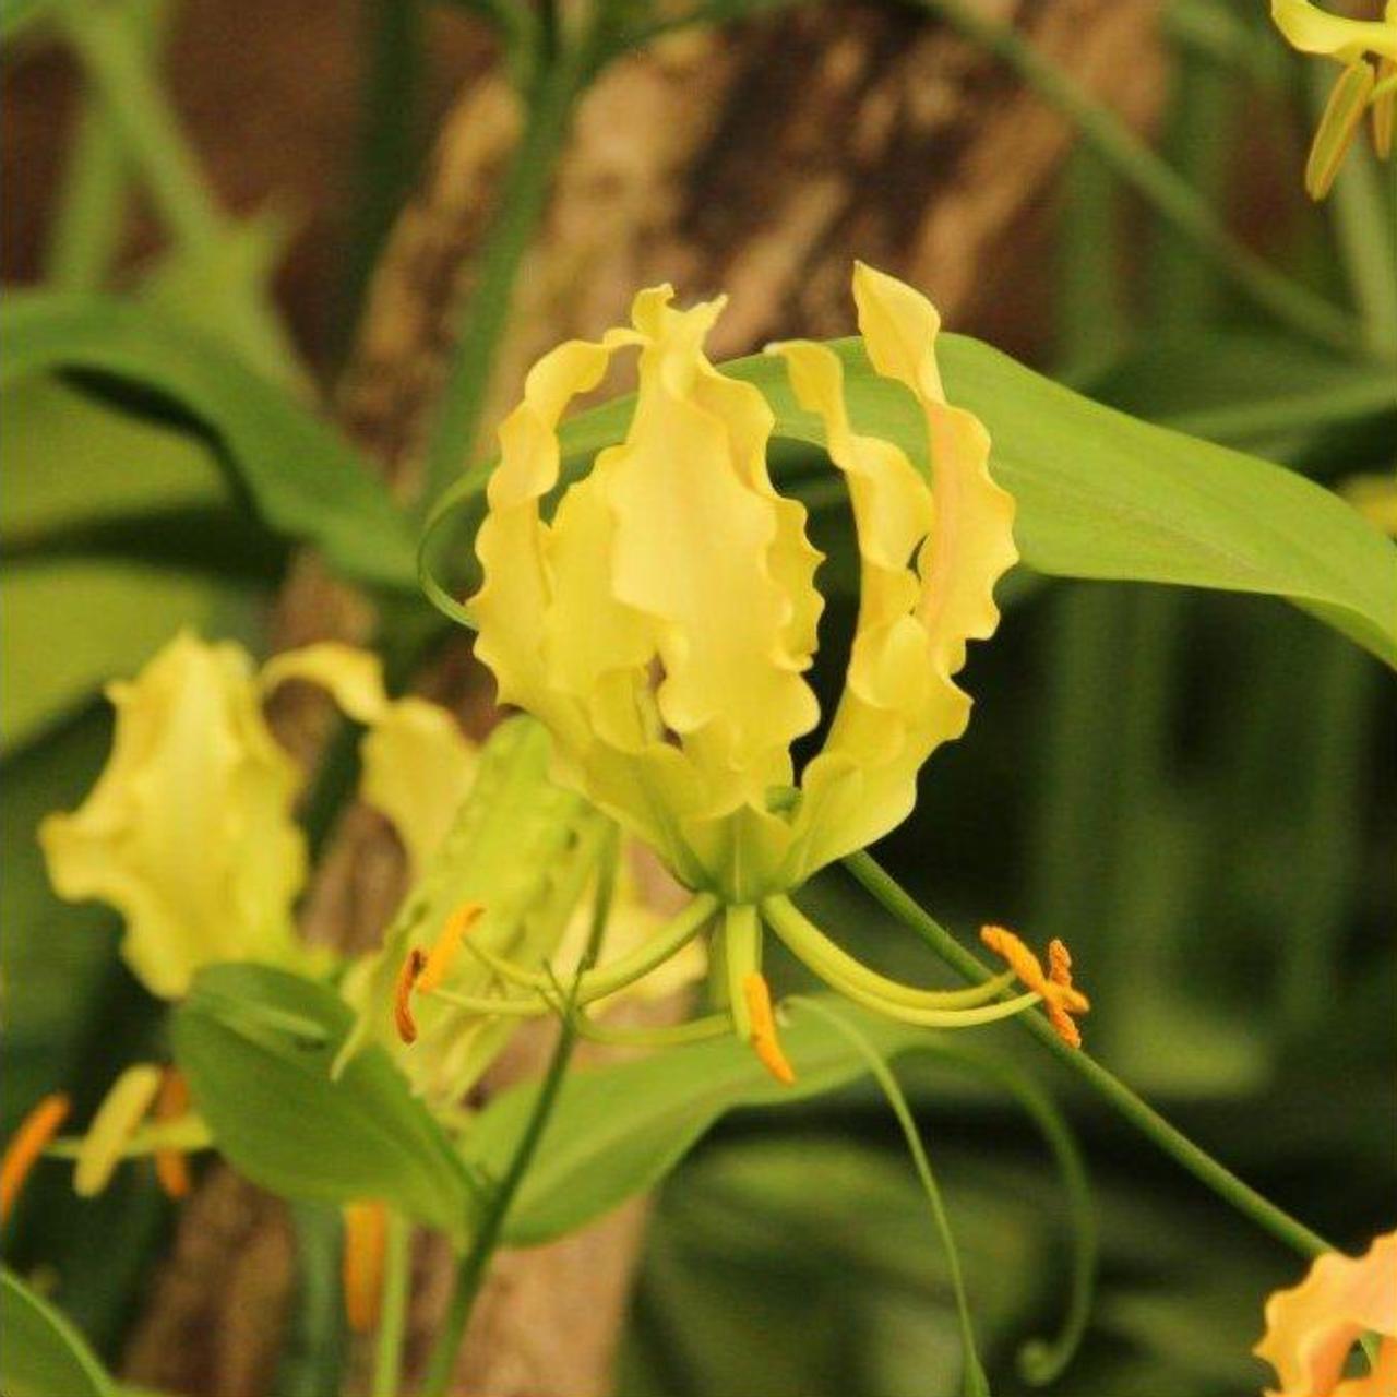
MULTIPOLYGON (((844 866, 882 907, 904 926, 916 932, 954 971, 975 983, 989 978, 990 972, 979 957, 961 946, 950 932, 925 912, 870 854, 866 851, 851 854, 844 859, 844 866)), ((1070 1048, 1065 1044, 1041 1014, 1020 1014, 1018 1023, 1059 1062, 1077 1073, 1112 1109, 1148 1136, 1160 1150, 1263 1231, 1270 1232, 1271 1236, 1299 1252, 1301 1256, 1319 1256, 1322 1252, 1334 1250, 1333 1245, 1317 1232, 1312 1232, 1303 1222, 1298 1222, 1268 1199, 1261 1197, 1231 1169, 1200 1150, 1187 1136, 1171 1126, 1158 1111, 1141 1101, 1123 1081, 1119 1081, 1080 1048, 1070 1048)))

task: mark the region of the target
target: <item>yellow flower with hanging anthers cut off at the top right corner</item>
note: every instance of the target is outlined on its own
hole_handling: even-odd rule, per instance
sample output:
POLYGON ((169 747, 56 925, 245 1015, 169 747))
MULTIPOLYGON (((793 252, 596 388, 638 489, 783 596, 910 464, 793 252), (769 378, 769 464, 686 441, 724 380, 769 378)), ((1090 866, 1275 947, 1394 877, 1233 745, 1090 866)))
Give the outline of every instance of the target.
POLYGON ((1291 47, 1333 59, 1344 68, 1324 106, 1305 166, 1310 198, 1324 198, 1365 112, 1372 112, 1379 158, 1391 154, 1397 113, 1397 0, 1387 0, 1382 20, 1329 14, 1309 0, 1271 0, 1271 18, 1291 47))

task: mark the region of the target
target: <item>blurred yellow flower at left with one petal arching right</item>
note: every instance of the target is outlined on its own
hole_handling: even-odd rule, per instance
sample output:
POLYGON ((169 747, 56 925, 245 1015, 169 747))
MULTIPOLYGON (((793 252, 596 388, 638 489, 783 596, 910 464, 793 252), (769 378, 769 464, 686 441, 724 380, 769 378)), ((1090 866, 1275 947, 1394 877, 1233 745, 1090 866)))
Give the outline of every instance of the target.
POLYGON ((289 679, 330 687, 362 721, 383 707, 377 659, 362 651, 312 645, 258 675, 237 645, 182 633, 108 689, 106 768, 81 809, 39 828, 57 893, 122 912, 122 954, 154 995, 183 995, 214 961, 305 958, 292 929, 306 876, 291 817, 300 774, 261 708, 289 679))

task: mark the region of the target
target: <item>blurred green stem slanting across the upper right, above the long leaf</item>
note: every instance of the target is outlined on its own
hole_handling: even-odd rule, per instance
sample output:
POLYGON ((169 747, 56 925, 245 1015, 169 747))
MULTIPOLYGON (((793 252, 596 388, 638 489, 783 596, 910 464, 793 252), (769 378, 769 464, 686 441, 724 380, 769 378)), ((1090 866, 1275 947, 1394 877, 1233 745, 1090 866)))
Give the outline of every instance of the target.
POLYGON ((1232 284, 1257 306, 1301 334, 1348 353, 1361 349, 1361 332, 1344 312, 1281 275, 1228 233, 1213 210, 1176 170, 1108 108, 1091 98, 1011 25, 988 18, 967 0, 912 0, 940 15, 968 39, 1007 63, 1044 101, 1066 116, 1081 138, 1126 183, 1144 196, 1232 284))

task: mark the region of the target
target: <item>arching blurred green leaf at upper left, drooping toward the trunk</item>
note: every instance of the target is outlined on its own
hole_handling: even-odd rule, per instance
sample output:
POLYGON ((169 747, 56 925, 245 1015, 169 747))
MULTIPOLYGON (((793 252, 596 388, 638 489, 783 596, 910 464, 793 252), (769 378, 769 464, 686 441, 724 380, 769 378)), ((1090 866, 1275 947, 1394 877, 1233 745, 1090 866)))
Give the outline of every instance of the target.
POLYGON ((319 548, 344 576, 412 585, 408 524, 387 488, 328 423, 243 359, 152 306, 20 292, 0 312, 3 374, 115 380, 140 415, 193 425, 263 522, 319 548))

